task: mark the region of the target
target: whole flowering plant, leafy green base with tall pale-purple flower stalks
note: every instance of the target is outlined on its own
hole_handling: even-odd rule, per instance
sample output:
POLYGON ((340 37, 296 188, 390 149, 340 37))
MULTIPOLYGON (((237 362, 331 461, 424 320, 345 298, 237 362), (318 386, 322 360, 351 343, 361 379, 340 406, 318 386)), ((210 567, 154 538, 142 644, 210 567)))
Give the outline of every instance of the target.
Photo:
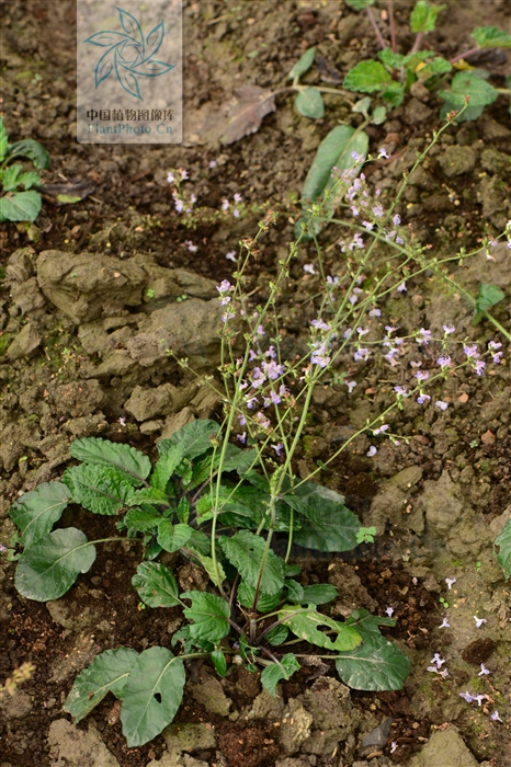
MULTIPOLYGON (((430 148, 456 117, 448 115, 430 148)), ((98 545, 122 540, 140 547, 132 585, 141 605, 183 610, 188 622, 172 636, 171 649, 106 650, 78 675, 67 697, 65 710, 80 721, 113 692, 122 701, 128 746, 147 743, 172 721, 188 660, 209 659, 220 676, 237 666, 261 669, 261 682, 272 694, 299 668, 303 654, 293 650, 304 642, 314 648, 309 653, 332 660, 341 680, 354 689, 400 689, 411 669, 405 652, 379 630, 395 626, 391 617, 361 608, 336 619, 329 609, 336 588, 303 585, 293 547, 320 556, 370 543, 375 529, 361 525, 340 493, 318 483, 322 472, 362 434, 373 443, 370 458, 384 439, 408 439, 394 433, 393 416, 408 407, 446 410, 450 402, 441 397, 442 384, 461 368, 477 379, 487 365, 499 365, 502 342, 488 340, 488 333, 498 331, 508 341, 510 336, 489 312, 501 300, 492 286, 481 286, 475 297, 454 283, 453 266, 476 252, 432 257, 396 211, 408 176, 385 210, 378 190, 372 193, 366 184, 362 171, 366 160, 352 150, 344 167, 321 171, 321 202, 309 206, 265 298, 256 306, 247 293, 248 266, 258 257, 260 240, 275 214, 268 211, 258 234, 241 241, 234 283, 225 279, 217 286, 224 312, 219 377, 197 375, 202 385, 222 397, 219 423, 194 421, 158 442, 155 465, 128 445, 76 439, 70 454, 79 465, 66 469, 61 481, 38 485, 11 507, 20 534, 10 557, 18 560, 15 587, 25 598, 59 598, 92 568, 98 545), (352 217, 339 218, 339 210, 351 210, 352 217), (325 221, 341 232, 338 274, 327 273, 318 240, 316 222, 325 221), (305 346, 286 354, 283 294, 306 239, 313 243, 315 260, 304 270, 319 277, 319 288, 309 297, 305 346), (447 321, 436 336, 427 328, 399 335, 399 328, 384 317, 385 300, 405 296, 407 282, 424 273, 433 275, 439 286, 454 284, 474 317, 480 314, 486 333, 480 343, 456 337, 447 321), (333 379, 347 387, 349 397, 356 378, 363 381, 365 363, 373 355, 382 355, 390 375, 400 371, 391 401, 305 479, 299 477, 295 458, 311 417, 315 390, 333 379), (61 515, 70 503, 115 517, 120 535, 89 540, 78 527, 63 527, 61 515), (208 587, 181 592, 172 570, 158 561, 164 552, 179 552, 202 568, 208 587)), ((488 259, 499 241, 511 247, 511 222, 499 238, 484 241, 488 259)), ((178 362, 193 373, 188 359, 178 362)), ((509 525, 496 545, 509 576, 509 525)))

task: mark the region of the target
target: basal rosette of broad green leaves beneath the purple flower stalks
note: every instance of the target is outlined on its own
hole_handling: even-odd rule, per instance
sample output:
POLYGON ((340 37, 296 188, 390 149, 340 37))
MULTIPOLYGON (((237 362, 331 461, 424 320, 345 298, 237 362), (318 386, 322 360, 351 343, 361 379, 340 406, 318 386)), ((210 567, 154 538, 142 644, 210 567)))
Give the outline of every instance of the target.
POLYGON ((172 650, 100 653, 66 699, 64 708, 76 722, 112 692, 122 701, 128 746, 147 743, 174 718, 190 657, 209 657, 220 676, 237 664, 262 668, 263 686, 275 694, 276 685, 299 669, 294 653, 279 650, 288 638, 328 653, 340 678, 355 689, 402 687, 410 661, 378 629, 395 621, 365 610, 345 621, 333 619, 328 604, 336 588, 303 586, 296 580, 299 565, 270 546, 270 530, 293 529, 296 542, 317 551, 355 548, 361 525, 342 495, 309 481, 296 489, 286 481, 275 497, 258 451, 227 443, 214 421, 194 421, 157 447, 159 459, 151 466, 128 445, 77 439, 70 453, 81 462, 68 468, 61 481, 45 482, 11 506, 23 549, 13 556, 22 596, 58 599, 92 568, 99 543, 127 539, 141 547, 132 580, 140 603, 181 606, 188 620, 173 634, 172 650), (126 537, 88 540, 76 527, 60 527, 69 503, 115 517, 126 537), (157 561, 162 551, 180 551, 204 568, 209 587, 181 592, 172 571, 157 561))

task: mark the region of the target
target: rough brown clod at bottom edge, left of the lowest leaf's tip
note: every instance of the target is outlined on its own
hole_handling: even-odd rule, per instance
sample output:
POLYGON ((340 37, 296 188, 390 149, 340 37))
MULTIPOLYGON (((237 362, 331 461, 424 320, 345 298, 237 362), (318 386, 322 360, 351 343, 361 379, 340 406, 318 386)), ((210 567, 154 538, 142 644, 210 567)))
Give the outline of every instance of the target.
POLYGON ((120 767, 92 724, 83 732, 67 719, 57 719, 49 725, 48 743, 53 767, 120 767))

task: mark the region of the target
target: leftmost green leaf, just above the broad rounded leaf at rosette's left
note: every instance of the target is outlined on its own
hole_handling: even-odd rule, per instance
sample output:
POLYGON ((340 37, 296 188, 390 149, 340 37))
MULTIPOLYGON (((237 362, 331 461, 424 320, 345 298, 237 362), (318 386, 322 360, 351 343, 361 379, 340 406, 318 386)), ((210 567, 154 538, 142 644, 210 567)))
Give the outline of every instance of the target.
POLYGON ((21 530, 20 543, 29 547, 47 535, 70 500, 69 488, 61 482, 43 482, 18 499, 10 514, 21 530))

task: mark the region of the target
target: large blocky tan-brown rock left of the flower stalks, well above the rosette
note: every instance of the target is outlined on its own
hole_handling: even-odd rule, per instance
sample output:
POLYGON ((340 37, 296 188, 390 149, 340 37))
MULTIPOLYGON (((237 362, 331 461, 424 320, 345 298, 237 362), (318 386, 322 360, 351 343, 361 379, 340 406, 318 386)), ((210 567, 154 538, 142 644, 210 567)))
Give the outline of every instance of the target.
POLYGON ((95 253, 43 251, 37 283, 60 311, 80 324, 98 319, 104 307, 138 306, 146 273, 130 260, 95 253))

